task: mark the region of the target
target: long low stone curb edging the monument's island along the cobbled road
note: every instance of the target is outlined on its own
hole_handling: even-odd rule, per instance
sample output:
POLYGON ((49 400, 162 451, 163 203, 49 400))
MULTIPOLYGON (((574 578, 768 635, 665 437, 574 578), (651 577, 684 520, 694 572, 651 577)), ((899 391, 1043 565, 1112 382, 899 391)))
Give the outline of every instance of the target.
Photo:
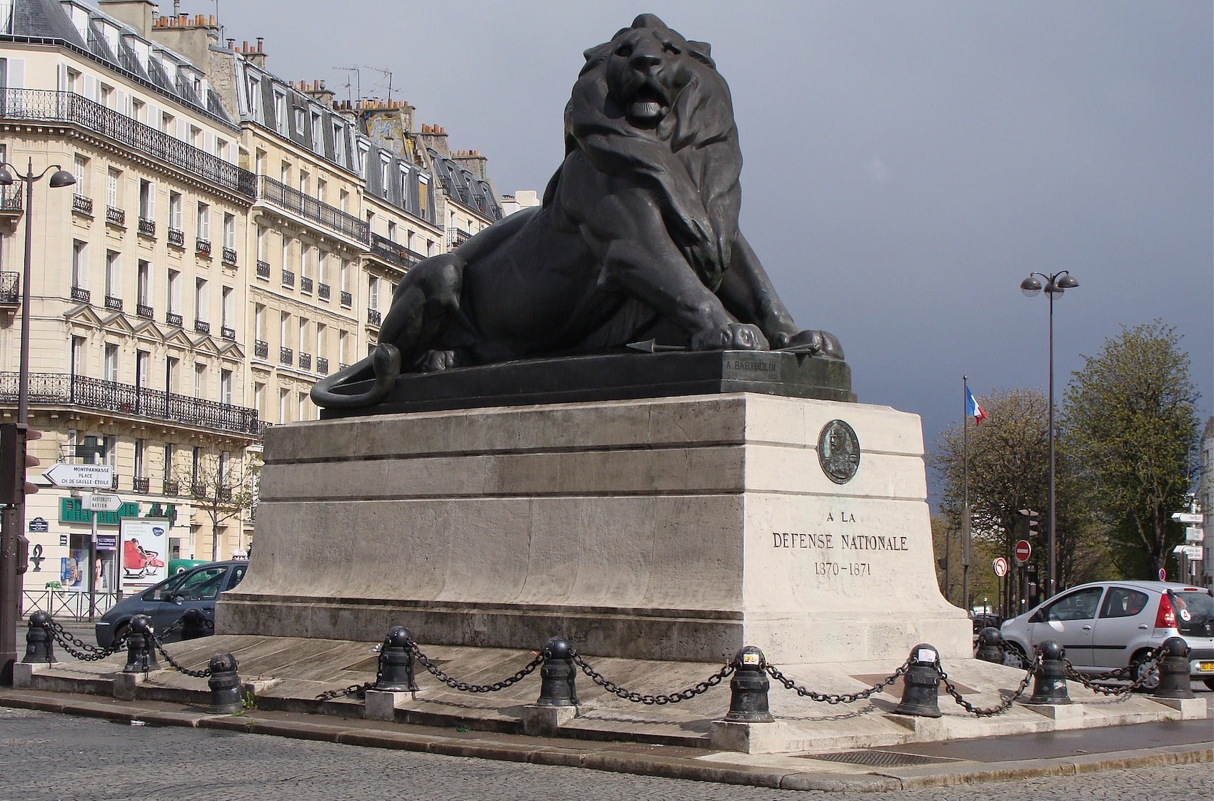
POLYGON ((113 721, 138 720, 160 726, 185 726, 222 731, 270 734, 345 745, 399 749, 455 757, 476 757, 534 765, 582 767, 615 773, 653 776, 673 779, 693 779, 717 784, 739 784, 781 790, 818 791, 890 791, 920 788, 952 786, 980 782, 1003 782, 1039 776, 1073 776, 1116 768, 1189 765, 1214 761, 1209 744, 1168 745, 1133 751, 1091 754, 1083 757, 1038 759, 1008 762, 966 762, 964 765, 921 766, 907 771, 872 771, 868 773, 830 773, 782 771, 762 766, 704 762, 690 757, 618 751, 609 749, 577 749, 484 737, 433 737, 413 732, 359 728, 339 723, 317 723, 299 720, 272 720, 249 714, 209 715, 202 708, 169 711, 137 706, 40 698, 39 693, 0 691, 0 706, 101 717, 113 721))

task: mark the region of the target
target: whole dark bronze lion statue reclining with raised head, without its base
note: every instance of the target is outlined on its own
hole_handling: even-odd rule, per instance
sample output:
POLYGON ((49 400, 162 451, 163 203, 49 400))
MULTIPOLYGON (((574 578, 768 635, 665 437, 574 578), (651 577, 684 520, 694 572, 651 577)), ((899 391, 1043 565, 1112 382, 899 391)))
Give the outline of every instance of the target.
POLYGON ((833 334, 793 322, 738 230, 742 153, 709 46, 641 15, 584 55, 543 205, 414 267, 374 353, 318 382, 318 406, 378 404, 403 371, 641 339, 843 359, 833 334))

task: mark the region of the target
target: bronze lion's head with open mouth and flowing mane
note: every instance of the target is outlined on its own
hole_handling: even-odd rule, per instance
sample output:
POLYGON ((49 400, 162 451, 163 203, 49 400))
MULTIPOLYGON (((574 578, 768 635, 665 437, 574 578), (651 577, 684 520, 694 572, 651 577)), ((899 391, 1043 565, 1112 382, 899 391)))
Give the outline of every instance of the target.
POLYGON ((742 153, 709 46, 641 15, 584 55, 565 110, 566 154, 656 189, 671 235, 716 286, 737 230, 742 153))

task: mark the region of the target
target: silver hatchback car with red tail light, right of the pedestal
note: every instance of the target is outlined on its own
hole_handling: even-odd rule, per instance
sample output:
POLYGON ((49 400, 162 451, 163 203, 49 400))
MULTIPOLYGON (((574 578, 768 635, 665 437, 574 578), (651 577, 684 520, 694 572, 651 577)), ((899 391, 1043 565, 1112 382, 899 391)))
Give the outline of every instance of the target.
MULTIPOLYGON (((1145 659, 1168 637, 1189 643, 1189 673, 1214 690, 1214 595, 1210 590, 1174 582, 1096 582, 1059 593, 1034 608, 1004 622, 1000 634, 1009 657, 1022 662, 1046 640, 1066 648, 1080 673, 1106 673, 1131 666, 1131 677, 1145 679, 1144 690, 1158 685, 1153 660, 1145 659)), ((1027 664, 1027 663, 1025 663, 1027 664)))

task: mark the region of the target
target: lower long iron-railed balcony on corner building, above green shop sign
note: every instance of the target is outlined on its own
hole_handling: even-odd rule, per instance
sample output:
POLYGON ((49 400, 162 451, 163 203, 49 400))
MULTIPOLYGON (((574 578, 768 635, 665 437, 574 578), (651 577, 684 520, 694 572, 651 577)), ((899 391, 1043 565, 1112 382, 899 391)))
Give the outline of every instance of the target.
MULTIPOLYGON (((0 373, 0 404, 17 402, 18 373, 0 373)), ((257 411, 154 389, 67 373, 30 373, 32 406, 75 406, 171 420, 182 425, 256 436, 257 411)), ((176 493, 166 493, 176 494, 176 493)))

